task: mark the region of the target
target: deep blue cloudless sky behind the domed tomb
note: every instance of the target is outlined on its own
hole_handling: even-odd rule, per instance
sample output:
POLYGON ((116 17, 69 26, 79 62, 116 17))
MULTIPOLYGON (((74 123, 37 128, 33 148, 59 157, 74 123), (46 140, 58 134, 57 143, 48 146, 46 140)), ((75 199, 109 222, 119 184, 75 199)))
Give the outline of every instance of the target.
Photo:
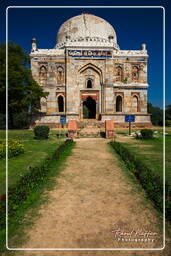
MULTIPOLYGON (((171 104, 169 90, 169 5, 167 1, 63 1, 62 5, 155 5, 166 8, 166 104, 171 104)), ((6 1, 1 6, 3 28, 0 41, 5 41, 5 7, 17 5, 61 5, 61 1, 6 1)), ((36 37, 38 48, 53 48, 60 25, 75 15, 88 11, 107 20, 115 29, 118 44, 123 50, 140 49, 146 43, 149 54, 148 101, 155 106, 163 104, 163 9, 162 8, 12 8, 9 9, 9 40, 21 45, 27 53, 31 49, 31 39, 36 37)), ((1 23, 2 24, 2 23, 1 23)), ((171 45, 171 44, 170 44, 171 45)), ((171 70, 170 70, 171 71, 171 70)))

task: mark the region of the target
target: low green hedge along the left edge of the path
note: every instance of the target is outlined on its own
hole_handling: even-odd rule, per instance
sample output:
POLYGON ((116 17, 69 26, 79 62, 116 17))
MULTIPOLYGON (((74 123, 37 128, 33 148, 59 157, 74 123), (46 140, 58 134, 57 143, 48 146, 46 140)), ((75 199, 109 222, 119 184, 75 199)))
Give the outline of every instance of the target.
MULTIPOLYGON (((17 211, 20 210, 20 207, 28 207, 28 205, 25 205, 27 198, 49 179, 48 175, 52 162, 55 161, 57 163, 63 156, 64 151, 69 152, 69 148, 72 147, 73 143, 72 140, 66 140, 40 166, 31 168, 17 184, 8 189, 9 222, 11 218, 15 218, 16 221, 17 211)), ((18 216, 18 218, 21 219, 21 216, 18 216)), ((0 196, 0 229, 5 229, 5 195, 0 196)))

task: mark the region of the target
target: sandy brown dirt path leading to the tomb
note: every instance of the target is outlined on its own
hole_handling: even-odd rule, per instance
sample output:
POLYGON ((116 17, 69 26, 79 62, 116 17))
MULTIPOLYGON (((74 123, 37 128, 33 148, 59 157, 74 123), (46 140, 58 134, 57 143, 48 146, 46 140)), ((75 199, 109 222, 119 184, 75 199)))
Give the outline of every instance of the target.
MULTIPOLYGON (((23 248, 162 247, 157 219, 143 196, 125 177, 105 139, 78 139, 23 248), (139 232, 145 230, 157 235, 149 236, 153 242, 123 242, 117 240, 121 236, 116 229, 133 230, 131 238, 142 238, 139 232)), ((17 255, 164 255, 147 253, 22 251, 17 255)))

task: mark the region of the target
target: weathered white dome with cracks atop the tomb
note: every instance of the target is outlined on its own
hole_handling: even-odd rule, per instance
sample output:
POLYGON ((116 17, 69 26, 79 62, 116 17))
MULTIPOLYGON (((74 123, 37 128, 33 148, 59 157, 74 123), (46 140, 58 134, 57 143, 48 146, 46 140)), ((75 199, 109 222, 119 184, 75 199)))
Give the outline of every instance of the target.
POLYGON ((113 46, 118 49, 114 28, 104 19, 82 13, 64 22, 57 34, 57 48, 75 46, 113 46))

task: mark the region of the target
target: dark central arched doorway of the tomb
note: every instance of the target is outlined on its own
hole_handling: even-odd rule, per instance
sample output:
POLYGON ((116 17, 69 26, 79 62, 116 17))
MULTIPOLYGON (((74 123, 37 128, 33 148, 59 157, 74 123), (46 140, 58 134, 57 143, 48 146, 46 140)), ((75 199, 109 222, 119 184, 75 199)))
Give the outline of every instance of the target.
POLYGON ((83 102, 83 118, 96 118, 96 101, 91 96, 87 97, 87 99, 83 102))

